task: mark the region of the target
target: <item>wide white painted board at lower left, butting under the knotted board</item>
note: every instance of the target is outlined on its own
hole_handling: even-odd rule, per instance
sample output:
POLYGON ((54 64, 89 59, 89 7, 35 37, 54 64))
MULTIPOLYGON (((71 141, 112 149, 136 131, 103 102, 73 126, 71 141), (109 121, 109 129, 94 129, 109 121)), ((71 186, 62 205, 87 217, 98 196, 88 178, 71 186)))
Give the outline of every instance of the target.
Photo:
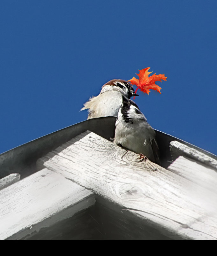
POLYGON ((0 239, 25 239, 94 205, 93 193, 43 169, 0 191, 0 239))

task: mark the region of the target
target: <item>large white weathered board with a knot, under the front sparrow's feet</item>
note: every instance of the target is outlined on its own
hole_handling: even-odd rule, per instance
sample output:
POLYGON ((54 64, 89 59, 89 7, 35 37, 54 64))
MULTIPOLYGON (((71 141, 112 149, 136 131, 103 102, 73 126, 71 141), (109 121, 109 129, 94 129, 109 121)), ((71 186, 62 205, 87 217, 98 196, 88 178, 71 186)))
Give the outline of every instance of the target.
POLYGON ((95 135, 80 134, 38 160, 173 239, 217 238, 216 194, 95 135), (207 197, 208 191, 208 197, 207 197))

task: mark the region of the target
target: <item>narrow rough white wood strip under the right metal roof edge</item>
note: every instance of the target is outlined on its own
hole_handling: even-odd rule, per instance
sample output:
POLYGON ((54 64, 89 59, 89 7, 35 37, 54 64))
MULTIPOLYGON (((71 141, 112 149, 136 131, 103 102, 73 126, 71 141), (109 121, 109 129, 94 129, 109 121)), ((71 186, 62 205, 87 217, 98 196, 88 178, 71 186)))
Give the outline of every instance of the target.
POLYGON ((186 156, 217 169, 217 160, 178 141, 171 141, 170 151, 174 160, 179 156, 186 156))

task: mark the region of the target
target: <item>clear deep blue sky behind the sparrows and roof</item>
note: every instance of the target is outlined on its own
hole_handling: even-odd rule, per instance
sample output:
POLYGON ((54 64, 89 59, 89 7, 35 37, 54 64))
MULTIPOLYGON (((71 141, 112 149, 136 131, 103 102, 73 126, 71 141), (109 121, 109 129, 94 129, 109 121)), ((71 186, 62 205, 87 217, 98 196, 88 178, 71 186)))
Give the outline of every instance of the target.
POLYGON ((2 1, 0 153, 86 120, 83 103, 138 69, 150 125, 217 154, 217 1, 2 1))

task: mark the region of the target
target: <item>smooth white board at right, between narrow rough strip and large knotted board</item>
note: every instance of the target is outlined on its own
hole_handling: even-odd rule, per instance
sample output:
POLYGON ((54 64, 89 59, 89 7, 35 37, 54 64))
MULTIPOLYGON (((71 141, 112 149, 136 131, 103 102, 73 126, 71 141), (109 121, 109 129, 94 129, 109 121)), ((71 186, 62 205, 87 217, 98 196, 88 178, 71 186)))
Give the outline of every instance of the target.
POLYGON ((201 162, 180 156, 168 167, 168 170, 217 194, 217 173, 201 162))

